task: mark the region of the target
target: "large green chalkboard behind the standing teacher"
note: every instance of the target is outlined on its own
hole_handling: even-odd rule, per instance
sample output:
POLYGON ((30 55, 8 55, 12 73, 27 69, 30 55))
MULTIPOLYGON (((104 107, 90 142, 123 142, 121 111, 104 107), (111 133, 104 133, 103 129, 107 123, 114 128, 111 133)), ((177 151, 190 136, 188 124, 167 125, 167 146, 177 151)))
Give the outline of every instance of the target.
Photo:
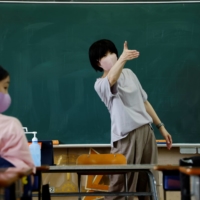
POLYGON ((174 142, 200 142, 200 3, 0 3, 0 64, 13 99, 6 114, 39 139, 109 144, 109 114, 94 91, 101 74, 88 59, 102 38, 140 51, 126 67, 174 142))

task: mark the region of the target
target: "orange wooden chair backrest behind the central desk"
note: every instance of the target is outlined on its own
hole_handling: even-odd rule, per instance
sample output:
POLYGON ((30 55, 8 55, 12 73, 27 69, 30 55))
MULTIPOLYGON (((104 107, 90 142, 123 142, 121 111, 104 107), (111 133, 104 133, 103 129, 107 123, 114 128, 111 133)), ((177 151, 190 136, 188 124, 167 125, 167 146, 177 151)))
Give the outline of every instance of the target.
POLYGON ((82 154, 76 160, 77 165, 127 164, 122 154, 82 154))

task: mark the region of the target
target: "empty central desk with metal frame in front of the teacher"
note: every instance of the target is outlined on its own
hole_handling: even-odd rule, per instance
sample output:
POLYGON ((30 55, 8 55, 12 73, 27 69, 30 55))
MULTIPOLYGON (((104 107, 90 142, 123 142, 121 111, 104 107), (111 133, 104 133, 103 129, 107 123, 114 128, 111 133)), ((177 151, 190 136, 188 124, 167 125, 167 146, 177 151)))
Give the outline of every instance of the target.
MULTIPOLYGON (((59 196, 79 196, 81 199, 82 196, 152 196, 154 200, 158 199, 155 179, 150 169, 153 169, 155 165, 63 165, 63 166, 49 166, 42 171, 42 173, 77 173, 78 174, 78 192, 73 193, 59 193, 59 196), (146 172, 148 174, 150 180, 150 192, 94 192, 94 193, 86 193, 81 192, 80 183, 81 183, 81 175, 87 174, 95 174, 95 175, 103 175, 103 174, 112 174, 113 171, 115 174, 117 173, 125 173, 128 172, 146 172)), ((127 178, 127 177, 126 177, 127 178)), ((126 179, 127 180, 127 179, 126 179)), ((127 184, 127 181, 126 181, 127 184)), ((51 194, 52 195, 52 194, 51 194)))

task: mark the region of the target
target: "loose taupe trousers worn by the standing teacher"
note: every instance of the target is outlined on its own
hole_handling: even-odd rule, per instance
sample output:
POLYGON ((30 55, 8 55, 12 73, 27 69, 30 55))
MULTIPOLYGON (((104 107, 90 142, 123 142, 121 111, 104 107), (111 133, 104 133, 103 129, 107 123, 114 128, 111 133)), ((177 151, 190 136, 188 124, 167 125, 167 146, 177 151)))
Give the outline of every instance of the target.
MULTIPOLYGON (((123 154, 128 164, 157 164, 157 144, 154 132, 147 124, 131 131, 127 137, 114 143, 111 153, 123 154)), ((158 183, 158 172, 152 171, 158 183)), ((130 172, 128 174, 128 190, 130 192, 149 191, 148 176, 144 172, 130 172)), ((124 176, 110 175, 110 192, 124 191, 124 176)), ((125 199, 120 196, 105 196, 105 200, 125 199)), ((132 200, 133 197, 129 197, 132 200)), ((150 197, 141 196, 139 200, 148 200, 150 197)))

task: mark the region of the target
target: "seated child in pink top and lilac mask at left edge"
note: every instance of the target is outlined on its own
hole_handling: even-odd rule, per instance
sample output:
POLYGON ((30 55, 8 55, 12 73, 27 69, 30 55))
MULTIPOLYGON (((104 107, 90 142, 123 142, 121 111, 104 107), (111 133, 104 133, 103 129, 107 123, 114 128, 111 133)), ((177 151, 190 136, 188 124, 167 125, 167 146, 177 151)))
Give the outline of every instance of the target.
MULTIPOLYGON (((17 167, 33 168, 34 163, 29 151, 28 141, 24 134, 21 123, 18 119, 3 115, 10 104, 11 98, 8 94, 10 76, 0 66, 0 168, 17 167)), ((5 199, 13 199, 14 185, 5 190, 5 199)), ((28 184, 24 185, 24 193, 21 199, 30 200, 32 195, 31 180, 28 177, 28 184)))

